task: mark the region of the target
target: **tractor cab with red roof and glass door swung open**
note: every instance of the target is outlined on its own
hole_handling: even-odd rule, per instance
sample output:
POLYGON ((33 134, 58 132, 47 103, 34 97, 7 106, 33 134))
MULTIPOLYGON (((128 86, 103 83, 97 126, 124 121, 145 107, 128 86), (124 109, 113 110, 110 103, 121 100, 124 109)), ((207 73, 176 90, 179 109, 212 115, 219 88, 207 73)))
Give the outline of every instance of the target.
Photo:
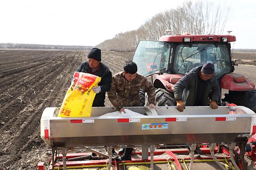
POLYGON ((138 73, 184 75, 192 68, 212 62, 217 78, 233 72, 230 55, 230 35, 168 35, 160 41, 142 40, 134 52, 138 73))

